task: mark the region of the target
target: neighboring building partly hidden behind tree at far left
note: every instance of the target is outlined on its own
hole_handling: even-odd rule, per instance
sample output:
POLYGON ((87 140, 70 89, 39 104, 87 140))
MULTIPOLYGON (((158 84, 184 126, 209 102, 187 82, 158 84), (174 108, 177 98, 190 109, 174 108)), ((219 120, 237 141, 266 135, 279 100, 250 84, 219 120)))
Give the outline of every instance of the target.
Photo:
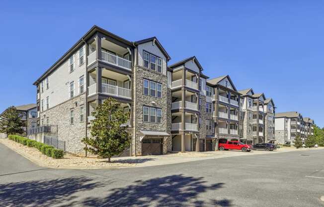
MULTIPOLYGON (((26 127, 24 127, 24 133, 22 135, 26 135, 26 129, 31 128, 31 127, 36 127, 37 126, 37 107, 35 103, 29 103, 25 105, 18 105, 14 106, 17 111, 19 111, 21 120, 26 123, 26 127)), ((5 112, 4 110, 1 114, 5 112)), ((0 134, 0 138, 7 137, 7 134, 0 134)))

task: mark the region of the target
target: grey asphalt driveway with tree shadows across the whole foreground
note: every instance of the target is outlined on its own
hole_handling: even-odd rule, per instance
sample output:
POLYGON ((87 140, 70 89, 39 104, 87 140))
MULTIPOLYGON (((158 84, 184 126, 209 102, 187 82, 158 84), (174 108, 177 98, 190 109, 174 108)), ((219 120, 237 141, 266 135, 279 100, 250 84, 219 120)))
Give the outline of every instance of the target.
POLYGON ((40 168, 0 144, 0 206, 323 207, 324 150, 102 170, 40 168))

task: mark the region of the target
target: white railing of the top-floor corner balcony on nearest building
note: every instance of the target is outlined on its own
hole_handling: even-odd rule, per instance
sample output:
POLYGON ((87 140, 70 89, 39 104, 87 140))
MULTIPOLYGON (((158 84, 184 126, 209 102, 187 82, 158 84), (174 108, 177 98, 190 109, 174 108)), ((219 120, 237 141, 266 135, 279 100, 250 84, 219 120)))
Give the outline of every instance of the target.
MULTIPOLYGON (((96 61, 96 52, 92 52, 88 57, 88 65, 92 64, 96 61)), ((101 61, 105 63, 109 63, 111 65, 126 69, 131 71, 132 70, 132 62, 121 58, 117 55, 113 55, 111 53, 105 52, 101 50, 101 61)))

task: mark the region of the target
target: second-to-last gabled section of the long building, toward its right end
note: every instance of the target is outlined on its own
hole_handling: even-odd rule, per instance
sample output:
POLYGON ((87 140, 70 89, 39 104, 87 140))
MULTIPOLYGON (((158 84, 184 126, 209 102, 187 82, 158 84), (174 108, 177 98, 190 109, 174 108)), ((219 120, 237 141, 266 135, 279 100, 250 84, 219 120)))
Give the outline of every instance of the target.
POLYGON ((265 142, 264 102, 263 93, 254 94, 252 89, 239 91, 241 94, 243 138, 244 143, 255 144, 265 142))

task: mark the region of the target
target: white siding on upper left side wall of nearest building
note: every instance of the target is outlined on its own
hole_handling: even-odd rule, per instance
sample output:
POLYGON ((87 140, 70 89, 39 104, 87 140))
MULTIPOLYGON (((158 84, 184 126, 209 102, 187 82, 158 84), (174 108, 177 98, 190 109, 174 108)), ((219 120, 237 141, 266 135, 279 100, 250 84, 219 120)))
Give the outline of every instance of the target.
MULTIPOLYGON (((84 45, 83 45, 84 47, 84 45)), ((70 73, 69 58, 62 63, 54 72, 49 75, 49 89, 46 89, 46 84, 44 82, 44 93, 41 93, 41 100, 44 100, 44 109, 46 108, 45 100, 49 97, 50 103, 49 107, 56 106, 70 99, 69 88, 70 82, 74 81, 75 84, 75 96, 79 95, 79 78, 84 76, 84 83, 86 70, 85 61, 79 66, 79 50, 75 52, 75 66, 74 71, 70 73)), ((85 60, 85 58, 84 58, 85 60)))

